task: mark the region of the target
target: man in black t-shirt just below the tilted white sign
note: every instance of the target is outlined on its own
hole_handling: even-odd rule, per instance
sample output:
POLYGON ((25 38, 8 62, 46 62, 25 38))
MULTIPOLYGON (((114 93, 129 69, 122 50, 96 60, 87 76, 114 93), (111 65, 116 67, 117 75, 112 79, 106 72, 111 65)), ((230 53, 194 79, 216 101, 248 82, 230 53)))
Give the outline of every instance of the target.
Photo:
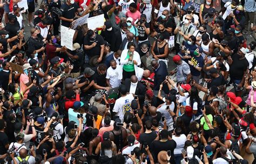
POLYGON ((99 55, 98 62, 102 61, 104 53, 104 39, 101 35, 96 34, 92 30, 88 30, 84 37, 84 49, 85 53, 89 56, 99 55))

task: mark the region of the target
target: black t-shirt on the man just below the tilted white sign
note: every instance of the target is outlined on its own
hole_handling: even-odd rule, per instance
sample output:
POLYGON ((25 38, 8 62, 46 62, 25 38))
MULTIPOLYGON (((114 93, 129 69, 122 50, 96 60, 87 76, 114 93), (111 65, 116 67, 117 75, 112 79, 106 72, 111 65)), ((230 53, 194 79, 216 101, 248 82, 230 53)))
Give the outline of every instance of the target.
POLYGON ((86 35, 84 37, 84 45, 91 46, 93 42, 96 42, 96 46, 91 49, 85 49, 86 54, 89 56, 89 58, 92 58, 92 56, 100 55, 100 46, 104 45, 104 39, 101 35, 96 34, 96 39, 91 39, 86 35))

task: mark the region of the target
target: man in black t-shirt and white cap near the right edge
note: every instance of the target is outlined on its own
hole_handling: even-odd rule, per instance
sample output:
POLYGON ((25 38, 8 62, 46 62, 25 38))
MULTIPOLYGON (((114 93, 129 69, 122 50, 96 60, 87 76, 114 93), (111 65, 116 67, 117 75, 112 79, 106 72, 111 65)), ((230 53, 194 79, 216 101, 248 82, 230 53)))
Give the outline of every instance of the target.
POLYGON ((246 70, 249 63, 245 58, 246 49, 240 48, 232 57, 228 56, 228 65, 230 65, 230 78, 235 87, 235 95, 241 96, 242 86, 244 86, 246 70))

